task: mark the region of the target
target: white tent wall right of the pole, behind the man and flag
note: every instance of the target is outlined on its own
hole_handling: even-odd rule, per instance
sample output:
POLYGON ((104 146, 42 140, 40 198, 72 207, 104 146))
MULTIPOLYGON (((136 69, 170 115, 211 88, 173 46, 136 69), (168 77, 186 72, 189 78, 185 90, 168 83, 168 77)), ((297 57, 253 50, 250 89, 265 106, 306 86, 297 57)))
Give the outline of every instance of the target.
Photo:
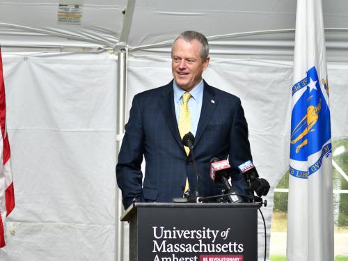
MULTIPOLYGON (((347 63, 329 63, 333 140, 348 136, 347 70, 347 63)), ((127 104, 132 104, 136 93, 168 84, 172 78, 171 58, 129 55, 128 73, 127 104)), ((203 77, 212 86, 233 93, 242 100, 254 164, 260 176, 271 184, 271 191, 264 197, 268 205, 262 207, 269 251, 273 190, 289 168, 292 61, 212 56, 203 77)), ((258 245, 259 260, 263 260, 264 227, 260 214, 258 245)))

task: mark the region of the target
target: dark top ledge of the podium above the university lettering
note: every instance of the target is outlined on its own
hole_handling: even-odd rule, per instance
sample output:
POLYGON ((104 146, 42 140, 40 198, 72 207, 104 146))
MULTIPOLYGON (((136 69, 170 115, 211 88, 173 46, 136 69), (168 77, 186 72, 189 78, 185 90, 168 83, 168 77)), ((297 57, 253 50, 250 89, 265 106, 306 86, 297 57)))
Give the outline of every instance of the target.
POLYGON ((138 208, 224 208, 224 207, 256 207, 260 208, 260 203, 133 203, 130 205, 120 221, 129 221, 138 208))

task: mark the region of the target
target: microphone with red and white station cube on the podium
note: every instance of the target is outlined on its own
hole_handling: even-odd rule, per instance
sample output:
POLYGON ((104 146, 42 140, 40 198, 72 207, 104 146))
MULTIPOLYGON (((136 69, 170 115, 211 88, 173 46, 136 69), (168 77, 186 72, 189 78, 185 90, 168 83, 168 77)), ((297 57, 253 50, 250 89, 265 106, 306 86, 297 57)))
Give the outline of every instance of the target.
POLYGON ((219 160, 214 157, 210 159, 210 177, 214 182, 222 182, 223 187, 226 189, 226 196, 230 203, 242 203, 244 200, 239 196, 236 191, 228 183, 230 177, 231 166, 227 159, 219 160))

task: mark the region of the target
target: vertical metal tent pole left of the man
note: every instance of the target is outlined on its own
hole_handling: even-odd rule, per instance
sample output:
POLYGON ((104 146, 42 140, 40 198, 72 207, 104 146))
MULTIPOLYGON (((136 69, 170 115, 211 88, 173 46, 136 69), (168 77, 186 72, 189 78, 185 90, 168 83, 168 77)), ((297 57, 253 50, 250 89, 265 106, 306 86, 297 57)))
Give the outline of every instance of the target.
MULTIPOLYGON (((127 90, 127 48, 120 49, 118 52, 117 66, 117 92, 116 92, 116 155, 120 152, 123 134, 125 133, 126 115, 126 90, 127 90)), ((117 161, 117 159, 116 159, 117 161)), ((123 213, 122 194, 116 184, 116 215, 115 215, 115 260, 125 259, 125 223, 120 222, 123 213)))

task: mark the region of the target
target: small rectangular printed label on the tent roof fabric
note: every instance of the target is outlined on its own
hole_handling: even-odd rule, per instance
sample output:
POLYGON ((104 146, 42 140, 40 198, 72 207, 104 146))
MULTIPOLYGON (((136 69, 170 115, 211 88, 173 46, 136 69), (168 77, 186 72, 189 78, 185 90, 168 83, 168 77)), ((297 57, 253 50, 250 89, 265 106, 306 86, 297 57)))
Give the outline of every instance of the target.
POLYGON ((58 24, 81 24, 84 0, 60 0, 58 5, 58 24))

